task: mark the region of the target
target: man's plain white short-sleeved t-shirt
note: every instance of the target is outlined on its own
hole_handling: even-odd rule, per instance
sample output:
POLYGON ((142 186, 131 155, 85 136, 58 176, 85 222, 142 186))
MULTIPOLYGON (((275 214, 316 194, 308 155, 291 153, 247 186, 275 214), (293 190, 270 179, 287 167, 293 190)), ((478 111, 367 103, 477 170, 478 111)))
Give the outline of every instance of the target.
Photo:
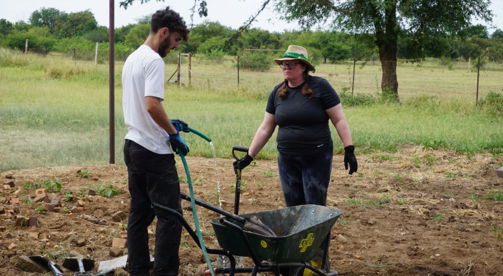
POLYGON ((122 109, 128 133, 124 139, 157 154, 172 154, 168 134, 147 112, 145 97, 164 100, 164 61, 154 50, 141 45, 122 69, 122 109))

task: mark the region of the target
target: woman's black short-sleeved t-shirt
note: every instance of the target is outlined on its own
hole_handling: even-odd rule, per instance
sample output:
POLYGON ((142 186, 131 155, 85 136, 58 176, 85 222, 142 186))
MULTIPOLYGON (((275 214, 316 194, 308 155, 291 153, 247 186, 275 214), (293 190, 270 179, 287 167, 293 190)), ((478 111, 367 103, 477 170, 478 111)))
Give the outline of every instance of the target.
POLYGON ((302 95, 302 86, 288 87, 282 99, 277 85, 267 101, 266 112, 274 114, 278 124, 278 152, 290 156, 316 153, 332 146, 329 117, 325 110, 338 105, 341 100, 332 86, 323 78, 309 76, 313 97, 302 95))

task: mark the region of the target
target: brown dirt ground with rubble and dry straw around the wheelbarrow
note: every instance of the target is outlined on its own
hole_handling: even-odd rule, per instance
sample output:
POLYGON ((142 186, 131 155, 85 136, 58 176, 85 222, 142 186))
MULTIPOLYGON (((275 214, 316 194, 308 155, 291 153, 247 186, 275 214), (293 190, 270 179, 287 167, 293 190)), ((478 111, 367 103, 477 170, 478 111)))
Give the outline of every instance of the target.
MULTIPOLYGON (((343 155, 333 159, 327 205, 344 214, 332 228, 332 269, 341 275, 503 274, 503 179, 496 176, 500 161, 490 154, 468 158, 412 146, 394 154, 357 153, 357 158, 359 170, 353 176, 344 170, 343 155)), ((189 193, 182 162, 177 160, 182 191, 189 193)), ((213 159, 189 155, 187 161, 196 198, 218 205, 213 159)), ((223 208, 232 212, 232 160, 217 159, 217 163, 223 208)), ((259 160, 243 171, 240 213, 285 207, 276 168, 276 161, 259 160)), ((22 255, 45 255, 61 266, 64 257, 81 254, 96 260, 93 273, 99 261, 114 258, 110 255, 114 238, 120 241, 126 236, 129 194, 124 166, 14 170, 0 177, 4 184, 0 189, 0 275, 51 275, 25 271, 22 255), (62 189, 54 194, 25 185, 55 178, 61 180, 62 189), (6 186, 13 185, 12 181, 14 187, 6 186), (118 195, 84 196, 90 189, 99 191, 110 185, 118 195), (41 202, 31 203, 40 200, 37 196, 41 202, 57 200, 56 212, 38 212, 41 202), (27 226, 30 217, 36 218, 38 227, 27 226)), ((182 204, 184 217, 193 226, 190 203, 182 204)), ((218 214, 202 207, 197 210, 206 245, 218 248, 208 222, 218 214)), ((152 254, 154 228, 155 224, 149 231, 152 254)), ((127 249, 115 253, 127 254, 127 249)), ((203 275, 202 251, 185 230, 180 257, 180 275, 203 275)), ((249 258, 244 263, 251 264, 249 258)))

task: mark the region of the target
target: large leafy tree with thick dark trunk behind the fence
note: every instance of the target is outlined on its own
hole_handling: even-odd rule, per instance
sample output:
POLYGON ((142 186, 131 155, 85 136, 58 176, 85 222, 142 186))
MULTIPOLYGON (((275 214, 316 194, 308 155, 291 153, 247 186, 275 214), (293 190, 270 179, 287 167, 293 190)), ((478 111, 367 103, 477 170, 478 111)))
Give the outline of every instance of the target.
POLYGON ((382 67, 381 89, 398 98, 396 55, 398 37, 406 31, 421 39, 456 34, 472 17, 491 21, 490 0, 276 0, 287 21, 305 27, 330 23, 352 33, 372 34, 382 67))

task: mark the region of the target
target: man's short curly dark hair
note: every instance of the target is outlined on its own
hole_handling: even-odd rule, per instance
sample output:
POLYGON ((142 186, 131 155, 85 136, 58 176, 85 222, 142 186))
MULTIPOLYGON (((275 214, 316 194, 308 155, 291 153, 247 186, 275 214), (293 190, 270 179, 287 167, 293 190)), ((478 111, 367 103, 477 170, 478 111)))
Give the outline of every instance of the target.
POLYGON ((183 17, 179 13, 170 10, 170 7, 166 7, 164 10, 158 10, 152 15, 150 32, 156 33, 159 29, 167 27, 170 32, 180 33, 182 35, 182 40, 187 40, 187 35, 190 30, 185 25, 183 17))

